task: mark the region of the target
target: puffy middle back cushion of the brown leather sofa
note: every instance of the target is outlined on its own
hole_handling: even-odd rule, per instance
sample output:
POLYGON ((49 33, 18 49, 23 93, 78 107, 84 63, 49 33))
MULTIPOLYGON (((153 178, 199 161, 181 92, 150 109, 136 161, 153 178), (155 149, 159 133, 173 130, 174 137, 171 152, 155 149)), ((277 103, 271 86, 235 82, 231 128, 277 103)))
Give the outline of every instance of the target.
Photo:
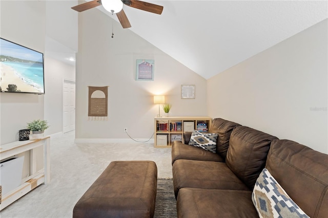
POLYGON ((226 163, 250 189, 264 168, 274 139, 277 137, 247 126, 238 126, 231 134, 226 163))

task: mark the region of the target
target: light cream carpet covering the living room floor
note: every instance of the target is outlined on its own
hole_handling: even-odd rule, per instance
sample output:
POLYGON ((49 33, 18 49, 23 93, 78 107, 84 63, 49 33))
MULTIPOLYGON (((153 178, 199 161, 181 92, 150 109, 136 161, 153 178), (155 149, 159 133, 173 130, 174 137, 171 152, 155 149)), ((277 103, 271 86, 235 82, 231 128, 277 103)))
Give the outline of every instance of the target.
POLYGON ((74 135, 70 132, 51 138, 50 183, 2 210, 2 218, 72 217, 76 202, 112 161, 154 161, 158 178, 172 178, 169 148, 154 148, 153 143, 76 144, 74 135))

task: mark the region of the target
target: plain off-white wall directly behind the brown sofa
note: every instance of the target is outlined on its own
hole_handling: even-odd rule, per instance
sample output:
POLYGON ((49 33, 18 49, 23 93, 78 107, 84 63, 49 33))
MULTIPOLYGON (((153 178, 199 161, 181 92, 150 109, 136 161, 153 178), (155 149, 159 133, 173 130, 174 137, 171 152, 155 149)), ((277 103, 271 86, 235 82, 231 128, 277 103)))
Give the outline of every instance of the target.
POLYGON ((328 153, 327 19, 208 80, 209 116, 328 153))

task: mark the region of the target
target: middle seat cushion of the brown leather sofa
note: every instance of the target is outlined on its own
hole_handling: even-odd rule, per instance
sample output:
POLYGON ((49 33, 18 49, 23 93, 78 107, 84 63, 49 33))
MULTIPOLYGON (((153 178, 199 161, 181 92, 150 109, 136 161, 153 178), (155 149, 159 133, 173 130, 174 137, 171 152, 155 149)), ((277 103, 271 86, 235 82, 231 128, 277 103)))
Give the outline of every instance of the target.
POLYGON ((250 190, 226 163, 176 160, 172 172, 175 198, 180 188, 250 190))

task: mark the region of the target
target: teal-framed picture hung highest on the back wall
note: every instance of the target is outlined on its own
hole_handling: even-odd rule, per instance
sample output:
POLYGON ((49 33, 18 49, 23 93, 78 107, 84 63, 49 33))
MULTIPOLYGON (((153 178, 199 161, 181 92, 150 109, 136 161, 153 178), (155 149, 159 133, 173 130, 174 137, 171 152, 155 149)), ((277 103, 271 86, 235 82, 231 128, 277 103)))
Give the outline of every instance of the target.
POLYGON ((136 80, 154 80, 154 60, 137 59, 136 80))

